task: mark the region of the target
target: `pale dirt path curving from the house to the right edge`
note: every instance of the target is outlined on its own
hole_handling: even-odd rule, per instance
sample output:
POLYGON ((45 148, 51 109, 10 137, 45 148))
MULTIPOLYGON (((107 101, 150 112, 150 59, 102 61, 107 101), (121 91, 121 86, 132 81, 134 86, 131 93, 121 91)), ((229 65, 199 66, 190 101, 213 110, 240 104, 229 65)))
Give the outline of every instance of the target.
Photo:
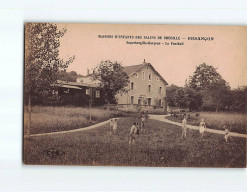
MULTIPOLYGON (((161 121, 161 122, 170 123, 170 124, 177 125, 177 126, 182 126, 182 123, 178 123, 178 122, 174 122, 174 121, 168 120, 166 118, 167 116, 170 116, 170 115, 149 115, 149 118, 150 119, 154 119, 154 120, 158 120, 158 121, 161 121)), ((189 129, 199 131, 199 127, 198 126, 187 125, 187 127, 189 129)), ((209 129, 209 128, 207 128, 206 131, 210 132, 210 133, 216 133, 216 134, 222 134, 222 135, 225 134, 225 131, 217 130, 217 129, 209 129)), ((247 135, 246 134, 230 132, 230 136, 242 137, 242 138, 246 138, 247 139, 247 135)))

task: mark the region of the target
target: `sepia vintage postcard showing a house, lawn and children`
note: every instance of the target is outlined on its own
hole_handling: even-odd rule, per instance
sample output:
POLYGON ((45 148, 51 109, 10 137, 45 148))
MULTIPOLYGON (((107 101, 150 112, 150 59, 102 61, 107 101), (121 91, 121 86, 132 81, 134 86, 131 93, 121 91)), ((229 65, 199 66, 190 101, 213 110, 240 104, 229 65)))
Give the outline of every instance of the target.
POLYGON ((246 35, 26 23, 23 162, 246 167, 246 35))

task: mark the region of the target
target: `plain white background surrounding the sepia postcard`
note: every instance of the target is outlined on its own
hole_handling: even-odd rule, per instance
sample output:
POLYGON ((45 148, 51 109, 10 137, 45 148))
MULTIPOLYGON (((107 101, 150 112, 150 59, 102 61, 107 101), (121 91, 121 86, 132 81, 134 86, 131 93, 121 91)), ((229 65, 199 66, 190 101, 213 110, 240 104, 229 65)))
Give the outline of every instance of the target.
POLYGON ((24 22, 246 25, 247 1, 2 1, 0 190, 246 191, 246 169, 22 165, 24 22))

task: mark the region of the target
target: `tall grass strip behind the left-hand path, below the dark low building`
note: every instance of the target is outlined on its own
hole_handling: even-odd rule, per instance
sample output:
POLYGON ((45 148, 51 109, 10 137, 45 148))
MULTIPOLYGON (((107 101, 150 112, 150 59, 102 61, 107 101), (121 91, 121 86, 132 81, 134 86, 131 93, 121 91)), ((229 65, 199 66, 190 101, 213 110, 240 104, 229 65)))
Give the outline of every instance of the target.
MULTIPOLYGON (((92 121, 89 121, 89 113, 88 108, 34 106, 31 115, 31 134, 72 130, 127 115, 121 111, 92 108, 92 121)), ((24 112, 24 129, 27 128, 27 121, 28 114, 24 112)))

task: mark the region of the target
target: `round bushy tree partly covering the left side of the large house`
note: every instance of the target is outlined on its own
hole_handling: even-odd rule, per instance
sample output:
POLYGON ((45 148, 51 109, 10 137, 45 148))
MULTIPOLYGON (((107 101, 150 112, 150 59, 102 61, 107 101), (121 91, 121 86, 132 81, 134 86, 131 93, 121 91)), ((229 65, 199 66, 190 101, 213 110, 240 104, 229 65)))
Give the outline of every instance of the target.
POLYGON ((102 61, 93 73, 94 79, 100 81, 100 87, 104 91, 105 101, 115 103, 115 95, 118 92, 126 92, 129 83, 128 75, 123 71, 120 63, 109 60, 102 61))

